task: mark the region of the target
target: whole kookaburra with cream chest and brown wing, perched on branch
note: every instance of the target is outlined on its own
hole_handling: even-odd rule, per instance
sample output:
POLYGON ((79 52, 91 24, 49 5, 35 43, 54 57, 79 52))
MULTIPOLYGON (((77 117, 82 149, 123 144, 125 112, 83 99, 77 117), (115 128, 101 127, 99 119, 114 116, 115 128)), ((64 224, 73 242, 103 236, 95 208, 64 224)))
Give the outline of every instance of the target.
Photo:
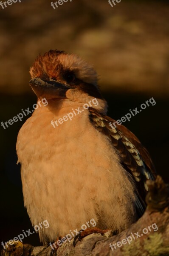
POLYGON ((155 178, 149 153, 123 125, 112 128, 97 73, 74 54, 50 50, 30 69, 32 90, 48 105, 37 108, 19 131, 24 204, 43 244, 94 218, 96 227, 119 232, 145 209, 146 180, 155 178), (90 106, 54 128, 59 120, 90 106))

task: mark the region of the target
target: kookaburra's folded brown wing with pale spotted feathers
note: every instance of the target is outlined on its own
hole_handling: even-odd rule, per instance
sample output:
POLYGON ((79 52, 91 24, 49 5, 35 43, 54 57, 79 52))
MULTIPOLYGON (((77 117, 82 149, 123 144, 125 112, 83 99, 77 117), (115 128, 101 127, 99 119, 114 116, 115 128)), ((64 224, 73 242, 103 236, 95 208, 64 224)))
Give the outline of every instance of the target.
POLYGON ((109 137, 117 154, 121 158, 121 165, 134 177, 139 196, 145 201, 148 191, 146 180, 155 179, 155 167, 148 151, 131 131, 123 125, 113 125, 115 120, 104 116, 93 108, 89 108, 90 122, 102 133, 109 137), (114 128, 110 127, 110 122, 114 128))

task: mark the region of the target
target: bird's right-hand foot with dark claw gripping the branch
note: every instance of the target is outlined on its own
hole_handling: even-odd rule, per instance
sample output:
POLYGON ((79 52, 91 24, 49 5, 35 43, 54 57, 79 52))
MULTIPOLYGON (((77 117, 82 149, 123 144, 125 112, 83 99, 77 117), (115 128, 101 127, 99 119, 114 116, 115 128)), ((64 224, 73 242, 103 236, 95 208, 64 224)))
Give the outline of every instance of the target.
POLYGON ((88 236, 90 234, 93 234, 93 233, 99 233, 101 234, 102 236, 107 232, 108 230, 101 230, 97 227, 94 227, 94 228, 87 228, 86 230, 80 230, 79 232, 79 235, 75 236, 74 237, 74 240, 73 240, 73 246, 75 247, 76 243, 78 241, 81 241, 82 238, 84 238, 85 236, 88 236))

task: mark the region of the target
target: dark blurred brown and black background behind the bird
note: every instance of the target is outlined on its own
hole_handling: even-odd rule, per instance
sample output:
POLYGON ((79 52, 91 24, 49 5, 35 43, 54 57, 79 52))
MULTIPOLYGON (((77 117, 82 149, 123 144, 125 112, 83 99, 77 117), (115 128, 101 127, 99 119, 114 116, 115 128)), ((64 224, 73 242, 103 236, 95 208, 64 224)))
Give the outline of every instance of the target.
MULTIPOLYGON (((22 0, 0 6, 0 122, 36 103, 28 70, 49 49, 79 54, 94 65, 113 119, 155 99, 155 106, 124 125, 146 146, 157 172, 169 182, 169 2, 121 0, 112 8, 108 0, 72 0, 54 10, 51 1, 22 0)), ((0 244, 22 230, 33 230, 15 151, 28 117, 6 129, 0 126, 0 244)), ((23 242, 40 244, 37 234, 23 242)))

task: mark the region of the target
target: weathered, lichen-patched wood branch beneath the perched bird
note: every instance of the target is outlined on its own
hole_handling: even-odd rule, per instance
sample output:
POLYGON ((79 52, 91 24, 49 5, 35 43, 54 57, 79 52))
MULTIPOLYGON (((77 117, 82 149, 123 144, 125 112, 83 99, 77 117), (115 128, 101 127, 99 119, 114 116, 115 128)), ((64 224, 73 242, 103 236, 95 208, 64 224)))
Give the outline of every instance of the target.
POLYGON ((144 215, 127 230, 113 236, 92 234, 77 242, 51 247, 32 247, 20 241, 1 252, 2 256, 169 256, 169 186, 160 176, 147 182, 147 208, 144 215), (110 248, 110 244, 112 249, 110 248), (114 244, 114 245, 113 245, 114 244), (115 249, 116 248, 116 249, 115 249))

